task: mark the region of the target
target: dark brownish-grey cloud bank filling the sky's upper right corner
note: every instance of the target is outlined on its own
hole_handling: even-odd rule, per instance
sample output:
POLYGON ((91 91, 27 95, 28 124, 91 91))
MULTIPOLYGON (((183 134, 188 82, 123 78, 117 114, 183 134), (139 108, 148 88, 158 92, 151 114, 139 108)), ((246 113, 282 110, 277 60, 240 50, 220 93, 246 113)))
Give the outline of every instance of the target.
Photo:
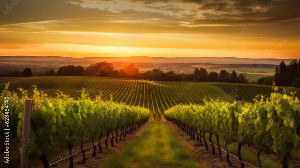
MULTIPOLYGON (((300 21, 300 1, 296 0, 230 0, 222 10, 203 14, 192 24, 241 25, 241 24, 287 24, 300 21)), ((204 4, 199 10, 208 9, 204 4)))

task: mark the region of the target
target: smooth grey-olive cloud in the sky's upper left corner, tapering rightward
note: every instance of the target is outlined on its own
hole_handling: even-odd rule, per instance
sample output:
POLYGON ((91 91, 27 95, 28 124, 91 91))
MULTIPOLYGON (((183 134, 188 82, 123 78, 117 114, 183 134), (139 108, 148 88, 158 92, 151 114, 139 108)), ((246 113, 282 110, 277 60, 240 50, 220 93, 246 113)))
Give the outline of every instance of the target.
POLYGON ((12 2, 1 0, 0 25, 102 16, 103 11, 99 9, 82 8, 70 1, 21 0, 4 16, 3 10, 7 10, 7 5, 10 6, 12 2))

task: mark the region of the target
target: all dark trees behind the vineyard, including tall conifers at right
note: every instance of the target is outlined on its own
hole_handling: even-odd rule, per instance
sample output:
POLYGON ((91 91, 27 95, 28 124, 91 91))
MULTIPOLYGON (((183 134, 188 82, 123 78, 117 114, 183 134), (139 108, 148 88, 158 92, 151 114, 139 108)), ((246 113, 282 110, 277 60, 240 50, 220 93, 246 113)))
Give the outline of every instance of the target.
MULTIPOLYGON (((230 83, 249 83, 243 73, 237 74, 235 71, 232 73, 226 70, 221 70, 220 73, 210 72, 206 69, 196 67, 193 73, 175 73, 173 71, 163 72, 160 69, 148 70, 144 73, 139 72, 139 68, 134 63, 125 66, 120 70, 113 67, 113 63, 98 62, 91 64, 88 67, 80 65, 68 65, 58 68, 55 72, 51 70, 45 71, 45 76, 99 76, 99 77, 115 77, 115 78, 130 78, 130 79, 148 79, 156 81, 202 81, 202 82, 230 82, 230 83)), ((7 74, 8 77, 14 76, 32 76, 30 68, 15 70, 7 74)), ((254 84, 272 85, 275 81, 278 86, 285 87, 300 87, 300 59, 294 59, 290 64, 281 61, 279 65, 275 66, 274 76, 265 76, 259 78, 254 84)))

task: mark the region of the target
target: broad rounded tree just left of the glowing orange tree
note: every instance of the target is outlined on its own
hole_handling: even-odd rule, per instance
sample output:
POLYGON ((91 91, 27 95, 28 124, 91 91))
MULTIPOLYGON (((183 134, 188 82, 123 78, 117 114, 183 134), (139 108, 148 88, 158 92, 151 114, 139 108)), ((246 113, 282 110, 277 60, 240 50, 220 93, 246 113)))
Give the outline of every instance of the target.
POLYGON ((85 76, 103 76, 107 77, 112 73, 115 68, 113 67, 113 63, 109 62, 97 62, 95 64, 91 64, 90 66, 85 68, 85 76))

